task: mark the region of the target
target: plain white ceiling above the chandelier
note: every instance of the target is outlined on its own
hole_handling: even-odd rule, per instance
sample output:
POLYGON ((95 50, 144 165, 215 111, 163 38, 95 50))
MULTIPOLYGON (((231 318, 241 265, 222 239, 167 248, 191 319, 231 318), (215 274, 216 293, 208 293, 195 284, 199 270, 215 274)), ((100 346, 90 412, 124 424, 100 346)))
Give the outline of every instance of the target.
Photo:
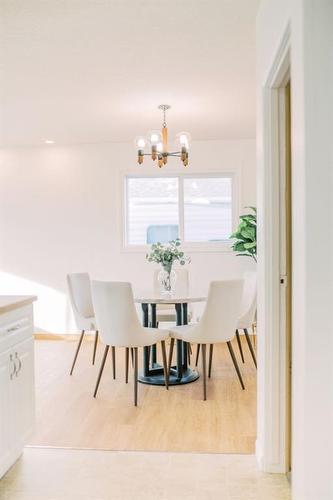
POLYGON ((4 145, 255 136, 259 0, 1 0, 4 145))

